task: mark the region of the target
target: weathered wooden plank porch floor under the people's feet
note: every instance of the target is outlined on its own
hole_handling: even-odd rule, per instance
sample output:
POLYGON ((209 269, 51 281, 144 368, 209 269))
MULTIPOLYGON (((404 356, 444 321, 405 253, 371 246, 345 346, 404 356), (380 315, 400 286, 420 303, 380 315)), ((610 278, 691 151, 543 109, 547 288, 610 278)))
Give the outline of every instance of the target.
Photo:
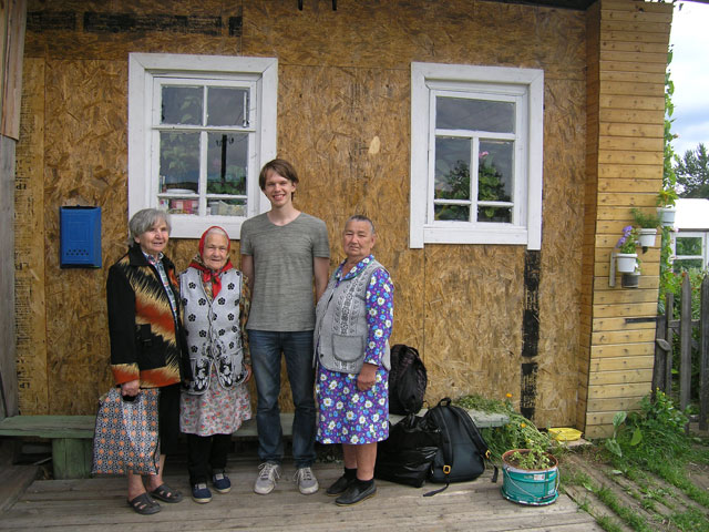
MULTIPOLYGON (((229 461, 233 489, 214 493, 208 504, 188 497, 186 468, 168 463, 166 481, 185 493, 178 504, 163 503, 155 515, 134 513, 125 502, 125 479, 35 480, 0 512, 0 530, 106 531, 150 526, 153 531, 248 530, 316 531, 595 531, 590 515, 566 495, 547 507, 523 507, 500 494, 502 478, 490 482, 487 471, 474 482, 451 484, 423 498, 433 484, 421 489, 378 481, 378 493, 356 507, 340 508, 325 494, 341 472, 336 463, 317 463, 314 471, 321 489, 301 495, 294 482, 292 463, 269 495, 251 491, 258 461, 245 457, 229 461)), ((144 529, 146 530, 146 529, 144 529)))

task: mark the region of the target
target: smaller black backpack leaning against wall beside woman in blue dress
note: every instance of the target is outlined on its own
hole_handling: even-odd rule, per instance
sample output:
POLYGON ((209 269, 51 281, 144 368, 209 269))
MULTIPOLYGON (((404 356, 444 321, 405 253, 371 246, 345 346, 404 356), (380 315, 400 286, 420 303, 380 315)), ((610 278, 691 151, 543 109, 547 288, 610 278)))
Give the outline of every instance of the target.
POLYGON ((391 348, 389 371, 389 412, 407 416, 417 413, 423 406, 428 385, 425 367, 419 351, 403 344, 391 348))

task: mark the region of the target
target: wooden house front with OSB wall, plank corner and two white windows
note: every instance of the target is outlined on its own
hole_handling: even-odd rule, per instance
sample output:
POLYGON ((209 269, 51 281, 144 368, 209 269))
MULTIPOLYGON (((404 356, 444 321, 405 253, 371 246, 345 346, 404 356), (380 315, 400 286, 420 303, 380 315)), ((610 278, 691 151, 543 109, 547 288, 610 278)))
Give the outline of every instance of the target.
POLYGON ((24 8, 4 18, 6 72, 21 65, 20 126, 4 129, 8 106, 2 131, 17 157, 0 188, 6 415, 92 413, 130 214, 175 213, 179 268, 213 223, 238 260, 276 155, 299 171, 297 207, 327 223, 331 267, 347 217, 374 221, 392 341, 420 350, 429 400, 511 393, 541 427, 599 437, 650 391, 659 249, 639 288, 608 275, 630 208, 661 186, 670 4, 4 6, 24 8), (76 205, 101 207, 101 268, 61 267, 60 207, 76 205))

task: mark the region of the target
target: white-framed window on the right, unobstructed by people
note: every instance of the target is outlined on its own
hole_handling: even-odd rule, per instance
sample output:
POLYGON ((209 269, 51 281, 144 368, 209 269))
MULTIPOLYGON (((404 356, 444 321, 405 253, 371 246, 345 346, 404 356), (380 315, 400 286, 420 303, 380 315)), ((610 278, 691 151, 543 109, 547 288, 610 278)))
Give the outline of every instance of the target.
POLYGON ((542 244, 544 72, 411 63, 410 247, 542 244))

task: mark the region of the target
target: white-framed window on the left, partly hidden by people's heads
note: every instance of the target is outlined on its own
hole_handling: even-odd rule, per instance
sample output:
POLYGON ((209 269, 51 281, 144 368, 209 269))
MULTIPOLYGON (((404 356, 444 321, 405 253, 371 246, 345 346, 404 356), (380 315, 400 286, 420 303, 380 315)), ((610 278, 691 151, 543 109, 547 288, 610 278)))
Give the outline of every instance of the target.
POLYGON ((171 213, 172 237, 196 238, 268 209, 258 174, 276 156, 274 58, 131 53, 129 215, 171 213))

